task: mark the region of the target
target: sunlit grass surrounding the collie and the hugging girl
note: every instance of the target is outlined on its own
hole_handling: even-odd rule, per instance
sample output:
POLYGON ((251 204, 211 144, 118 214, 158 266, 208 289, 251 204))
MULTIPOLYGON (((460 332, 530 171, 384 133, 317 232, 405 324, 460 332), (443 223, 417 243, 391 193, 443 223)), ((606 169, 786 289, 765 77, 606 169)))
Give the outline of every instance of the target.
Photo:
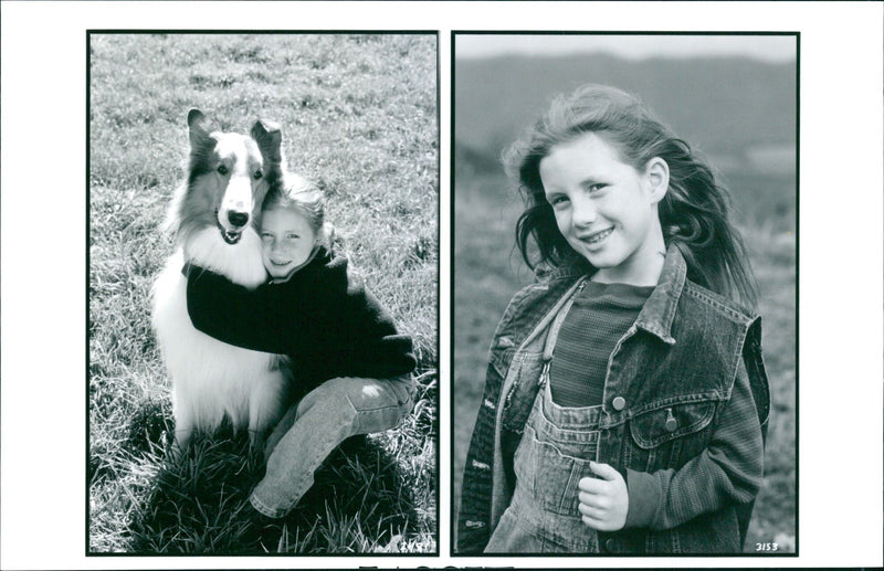
POLYGON ((436 547, 438 120, 432 34, 93 34, 90 41, 88 549, 93 553, 421 552, 436 547), (354 438, 280 525, 243 517, 262 464, 222 430, 171 456, 149 290, 183 177, 188 109, 283 128, 340 250, 414 339, 419 394, 354 438))

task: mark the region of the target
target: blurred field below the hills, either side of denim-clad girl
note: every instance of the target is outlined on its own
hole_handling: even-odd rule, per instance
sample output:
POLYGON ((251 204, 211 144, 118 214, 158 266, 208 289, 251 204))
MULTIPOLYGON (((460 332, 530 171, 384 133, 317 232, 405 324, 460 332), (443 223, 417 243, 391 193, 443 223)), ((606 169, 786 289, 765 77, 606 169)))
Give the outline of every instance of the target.
MULTIPOLYGON (((727 179, 759 282, 758 310, 772 398, 765 482, 745 548, 755 552, 756 542, 776 541, 779 551, 788 552, 796 547, 797 519, 794 181, 747 173, 727 179)), ((513 294, 533 281, 513 250, 522 202, 507 184, 502 175, 485 169, 464 168, 455 177, 455 510, 494 329, 513 294)))

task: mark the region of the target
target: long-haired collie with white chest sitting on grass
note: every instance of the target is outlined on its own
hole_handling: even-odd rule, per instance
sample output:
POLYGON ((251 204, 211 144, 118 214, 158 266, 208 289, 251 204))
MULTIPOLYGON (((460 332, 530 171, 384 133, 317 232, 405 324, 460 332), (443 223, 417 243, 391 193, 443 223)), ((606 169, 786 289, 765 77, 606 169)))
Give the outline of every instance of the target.
POLYGON ((198 109, 187 124, 187 180, 176 190, 166 224, 178 250, 154 285, 152 307, 173 385, 175 438, 183 447, 194 431, 214 431, 227 416, 234 431, 248 426, 254 445, 282 415, 291 380, 285 358, 198 331, 188 316, 181 268, 190 262, 249 288, 266 279, 256 228, 265 194, 282 182, 281 134, 260 120, 251 136, 209 131, 198 109))

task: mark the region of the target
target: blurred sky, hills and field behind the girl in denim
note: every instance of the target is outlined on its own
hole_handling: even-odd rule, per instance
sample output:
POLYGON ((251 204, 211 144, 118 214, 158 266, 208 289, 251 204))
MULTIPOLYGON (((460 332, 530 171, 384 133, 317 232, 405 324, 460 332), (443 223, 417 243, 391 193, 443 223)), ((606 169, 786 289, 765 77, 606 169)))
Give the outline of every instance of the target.
POLYGON ((797 38, 455 34, 454 519, 487 350, 532 272, 514 249, 522 199, 502 151, 551 96, 583 83, 638 94, 728 187, 759 282, 771 417, 747 552, 796 549, 797 38))

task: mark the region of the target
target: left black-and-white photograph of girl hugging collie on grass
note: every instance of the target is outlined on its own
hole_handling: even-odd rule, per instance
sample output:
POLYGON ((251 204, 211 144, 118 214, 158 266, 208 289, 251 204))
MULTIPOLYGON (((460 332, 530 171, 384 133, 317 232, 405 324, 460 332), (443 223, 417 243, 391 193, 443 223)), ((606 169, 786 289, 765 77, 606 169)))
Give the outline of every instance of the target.
POLYGON ((438 554, 435 33, 87 33, 87 554, 438 554))

